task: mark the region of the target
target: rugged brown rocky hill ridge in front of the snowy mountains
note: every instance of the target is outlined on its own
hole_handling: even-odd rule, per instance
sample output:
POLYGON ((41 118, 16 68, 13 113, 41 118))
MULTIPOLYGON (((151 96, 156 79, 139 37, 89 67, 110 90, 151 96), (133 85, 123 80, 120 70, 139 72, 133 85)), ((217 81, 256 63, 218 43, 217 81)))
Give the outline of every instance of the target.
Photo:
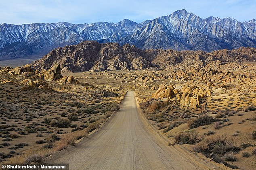
POLYGON ((208 53, 172 49, 142 50, 129 44, 120 46, 118 43, 84 41, 78 45, 67 45, 54 49, 42 59, 34 61, 31 67, 43 70, 58 63, 63 68, 63 72, 141 70, 150 67, 168 69, 177 64, 181 68, 204 66, 215 60, 223 62, 256 61, 255 56, 256 49, 250 47, 223 49, 208 53))

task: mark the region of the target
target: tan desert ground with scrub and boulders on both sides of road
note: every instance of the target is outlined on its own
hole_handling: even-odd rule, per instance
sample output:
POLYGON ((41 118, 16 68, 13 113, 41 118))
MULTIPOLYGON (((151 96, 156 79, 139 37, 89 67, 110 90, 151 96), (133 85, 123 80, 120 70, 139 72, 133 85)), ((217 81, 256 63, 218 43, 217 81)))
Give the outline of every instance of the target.
MULTIPOLYGON (((115 125, 120 103, 134 90, 152 131, 167 141, 159 152, 164 158, 172 158, 176 147, 209 164, 256 168, 255 63, 214 61, 201 68, 62 73, 62 78, 50 77, 54 69, 21 70, 0 68, 2 162, 41 162, 57 151, 72 152, 93 142, 90 134, 107 120, 107 127, 115 125)), ((139 136, 152 133, 137 129, 143 130, 139 136)))

